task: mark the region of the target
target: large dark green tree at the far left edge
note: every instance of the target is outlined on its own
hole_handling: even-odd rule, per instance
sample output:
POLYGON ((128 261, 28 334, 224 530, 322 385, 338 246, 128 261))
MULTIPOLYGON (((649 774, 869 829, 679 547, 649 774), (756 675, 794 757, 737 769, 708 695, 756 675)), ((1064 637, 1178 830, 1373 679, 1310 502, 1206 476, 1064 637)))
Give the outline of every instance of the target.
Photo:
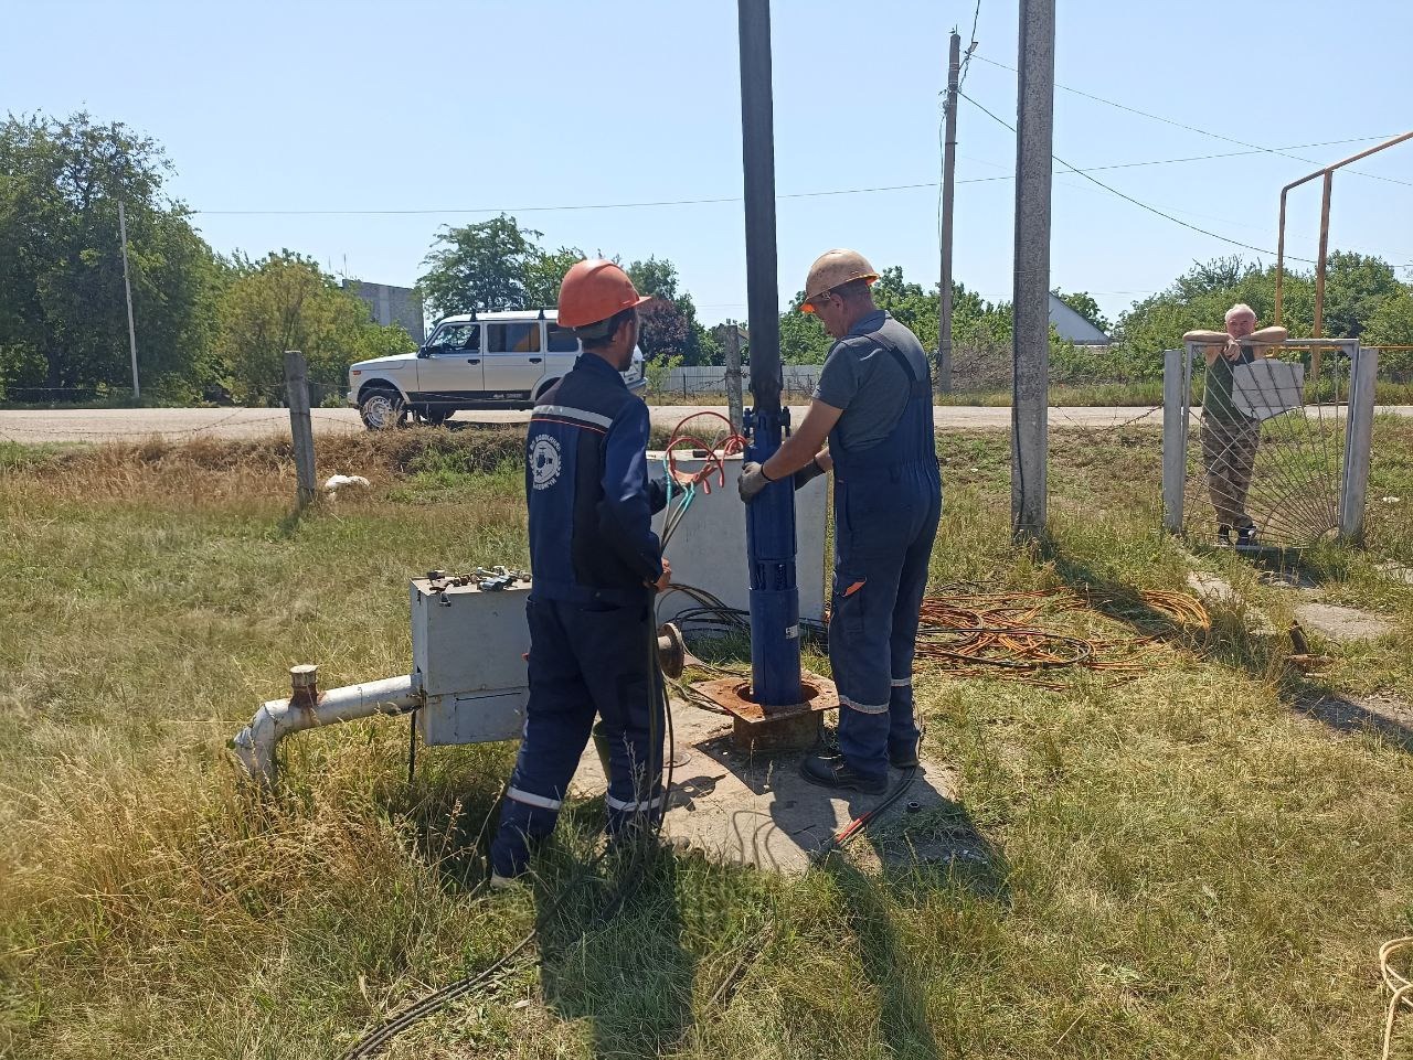
POLYGON ((123 202, 143 383, 192 383, 213 335, 216 258, 162 193, 162 148, 120 121, 0 126, 0 385, 129 385, 123 202))

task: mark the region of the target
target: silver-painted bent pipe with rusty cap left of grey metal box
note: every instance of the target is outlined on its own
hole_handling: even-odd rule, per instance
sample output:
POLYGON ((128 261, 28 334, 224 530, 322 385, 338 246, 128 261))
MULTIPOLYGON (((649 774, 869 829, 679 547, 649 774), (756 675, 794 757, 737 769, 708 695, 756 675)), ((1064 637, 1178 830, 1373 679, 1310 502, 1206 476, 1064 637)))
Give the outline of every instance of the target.
POLYGON ((314 668, 291 670, 294 694, 263 703, 230 748, 252 779, 266 786, 276 781, 276 744, 291 733, 373 714, 406 714, 422 703, 421 689, 411 675, 349 685, 322 694, 314 686, 314 668))

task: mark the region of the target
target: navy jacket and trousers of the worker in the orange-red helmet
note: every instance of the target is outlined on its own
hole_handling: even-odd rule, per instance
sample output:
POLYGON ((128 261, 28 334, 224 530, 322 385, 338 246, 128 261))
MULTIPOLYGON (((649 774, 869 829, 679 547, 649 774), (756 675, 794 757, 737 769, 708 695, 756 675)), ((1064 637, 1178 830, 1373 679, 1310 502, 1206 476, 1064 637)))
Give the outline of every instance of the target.
POLYGON ((530 700, 490 848, 524 872, 552 830, 595 714, 609 740, 608 831, 663 813, 663 697, 653 589, 663 573, 647 476, 649 414, 592 353, 551 387, 526 436, 530 508, 530 700))

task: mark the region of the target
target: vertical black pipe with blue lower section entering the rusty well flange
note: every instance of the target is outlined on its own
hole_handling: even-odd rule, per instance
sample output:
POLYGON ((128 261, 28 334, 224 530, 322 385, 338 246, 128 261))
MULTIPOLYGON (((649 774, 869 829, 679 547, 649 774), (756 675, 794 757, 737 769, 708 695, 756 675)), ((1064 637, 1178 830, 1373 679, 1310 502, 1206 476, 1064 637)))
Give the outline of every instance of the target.
MULTIPOLYGON (((780 408, 780 292, 776 279, 774 110, 770 89, 770 0, 738 0, 740 28, 740 135, 746 195, 746 301, 750 327, 750 446, 759 463, 777 449, 788 423, 780 408)), ((767 486, 746 505, 750 570, 752 697, 770 707, 803 701, 800 589, 796 583, 794 484, 767 486)))

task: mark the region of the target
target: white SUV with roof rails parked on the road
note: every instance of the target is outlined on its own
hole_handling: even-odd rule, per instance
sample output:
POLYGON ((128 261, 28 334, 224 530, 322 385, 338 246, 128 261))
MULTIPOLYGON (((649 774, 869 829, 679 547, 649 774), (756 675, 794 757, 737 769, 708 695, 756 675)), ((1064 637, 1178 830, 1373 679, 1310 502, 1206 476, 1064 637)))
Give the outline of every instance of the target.
MULTIPOLYGON (((584 349, 558 316, 555 309, 448 316, 417 353, 349 367, 349 404, 369 430, 410 415, 435 425, 459 409, 534 408, 584 349)), ((637 349, 623 381, 634 394, 647 387, 637 349)))

